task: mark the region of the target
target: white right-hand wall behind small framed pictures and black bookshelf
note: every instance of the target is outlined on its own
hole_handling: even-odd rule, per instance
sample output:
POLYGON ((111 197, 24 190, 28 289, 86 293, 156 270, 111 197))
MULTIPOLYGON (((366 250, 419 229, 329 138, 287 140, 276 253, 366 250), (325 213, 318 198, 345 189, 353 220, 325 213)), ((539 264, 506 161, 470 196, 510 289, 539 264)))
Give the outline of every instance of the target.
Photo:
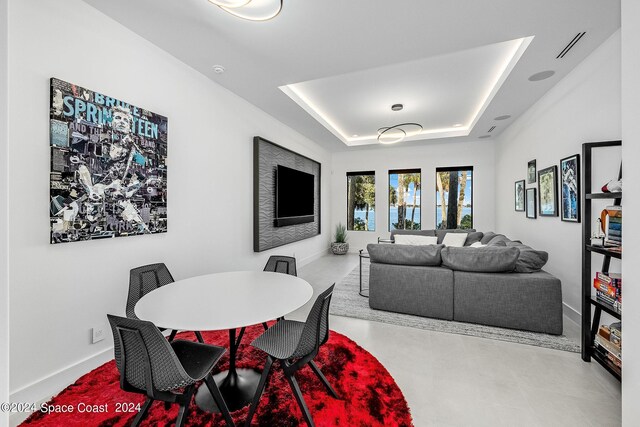
MULTIPOLYGON (((560 159, 582 153, 585 142, 620 139, 620 114, 618 31, 506 129, 496 146, 496 194, 500 195, 496 228, 549 252, 545 270, 562 281, 563 300, 572 309, 565 312, 576 321, 581 311, 582 227, 559 217, 532 220, 524 212, 515 212, 514 183, 526 179, 529 160, 537 160, 538 170, 559 167, 560 159)), ((616 178, 620 167, 619 149, 597 154, 602 157, 595 168, 594 185, 616 178)), ((527 188, 536 185, 527 184, 527 188)), ((600 210, 594 204, 594 212, 600 210)), ((593 262, 598 264, 600 258, 594 256, 593 262)))

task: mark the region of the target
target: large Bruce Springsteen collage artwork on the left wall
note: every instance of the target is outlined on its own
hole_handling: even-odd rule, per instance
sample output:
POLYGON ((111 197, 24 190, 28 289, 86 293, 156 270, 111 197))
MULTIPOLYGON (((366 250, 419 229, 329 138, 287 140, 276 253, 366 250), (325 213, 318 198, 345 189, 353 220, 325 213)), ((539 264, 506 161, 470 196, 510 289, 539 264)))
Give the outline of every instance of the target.
POLYGON ((51 79, 51 243, 167 231, 167 118, 51 79))

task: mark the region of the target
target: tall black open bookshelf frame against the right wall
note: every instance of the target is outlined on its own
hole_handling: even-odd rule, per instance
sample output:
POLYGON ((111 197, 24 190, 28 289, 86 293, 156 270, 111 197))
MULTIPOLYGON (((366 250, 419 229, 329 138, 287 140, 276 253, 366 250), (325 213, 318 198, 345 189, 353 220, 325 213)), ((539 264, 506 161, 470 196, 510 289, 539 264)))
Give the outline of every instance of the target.
MULTIPOLYGON (((593 212, 591 212, 591 201, 596 199, 612 199, 614 205, 622 202, 622 192, 619 193, 599 193, 592 192, 592 150, 603 147, 620 147, 622 141, 587 142, 582 144, 582 170, 583 189, 582 196, 583 220, 582 220, 582 360, 590 362, 592 359, 602 365, 611 375, 618 380, 622 377, 622 369, 611 362, 606 355, 594 345, 595 335, 600 327, 600 317, 605 312, 618 320, 622 320, 622 312, 612 304, 602 301, 592 295, 593 277, 591 275, 592 254, 602 255, 602 269, 604 273, 609 272, 611 258, 622 259, 622 251, 606 246, 591 245, 591 224, 593 222, 593 212), (591 315, 591 308, 593 316, 591 315)), ((622 178, 622 168, 620 169, 622 178)))

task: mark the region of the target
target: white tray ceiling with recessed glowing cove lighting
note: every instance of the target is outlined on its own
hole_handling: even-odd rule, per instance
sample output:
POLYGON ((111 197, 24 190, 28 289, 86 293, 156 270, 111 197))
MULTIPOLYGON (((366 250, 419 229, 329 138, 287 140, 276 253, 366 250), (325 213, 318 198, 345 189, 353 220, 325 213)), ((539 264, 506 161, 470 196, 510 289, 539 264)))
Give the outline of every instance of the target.
POLYGON ((207 0, 84 1, 334 151, 403 122, 424 132, 402 145, 495 137, 620 27, 619 0, 284 0, 266 22, 207 0))

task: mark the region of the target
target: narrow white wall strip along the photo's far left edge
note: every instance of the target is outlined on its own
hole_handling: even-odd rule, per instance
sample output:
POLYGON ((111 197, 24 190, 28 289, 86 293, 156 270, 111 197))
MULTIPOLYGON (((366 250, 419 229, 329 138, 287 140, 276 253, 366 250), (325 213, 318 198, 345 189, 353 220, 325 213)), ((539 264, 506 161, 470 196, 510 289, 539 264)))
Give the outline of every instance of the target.
MULTIPOLYGON (((0 403, 9 401, 9 281, 7 248, 8 193, 8 10, 0 0, 0 403)), ((8 424, 9 414, 0 412, 0 426, 8 424)))

